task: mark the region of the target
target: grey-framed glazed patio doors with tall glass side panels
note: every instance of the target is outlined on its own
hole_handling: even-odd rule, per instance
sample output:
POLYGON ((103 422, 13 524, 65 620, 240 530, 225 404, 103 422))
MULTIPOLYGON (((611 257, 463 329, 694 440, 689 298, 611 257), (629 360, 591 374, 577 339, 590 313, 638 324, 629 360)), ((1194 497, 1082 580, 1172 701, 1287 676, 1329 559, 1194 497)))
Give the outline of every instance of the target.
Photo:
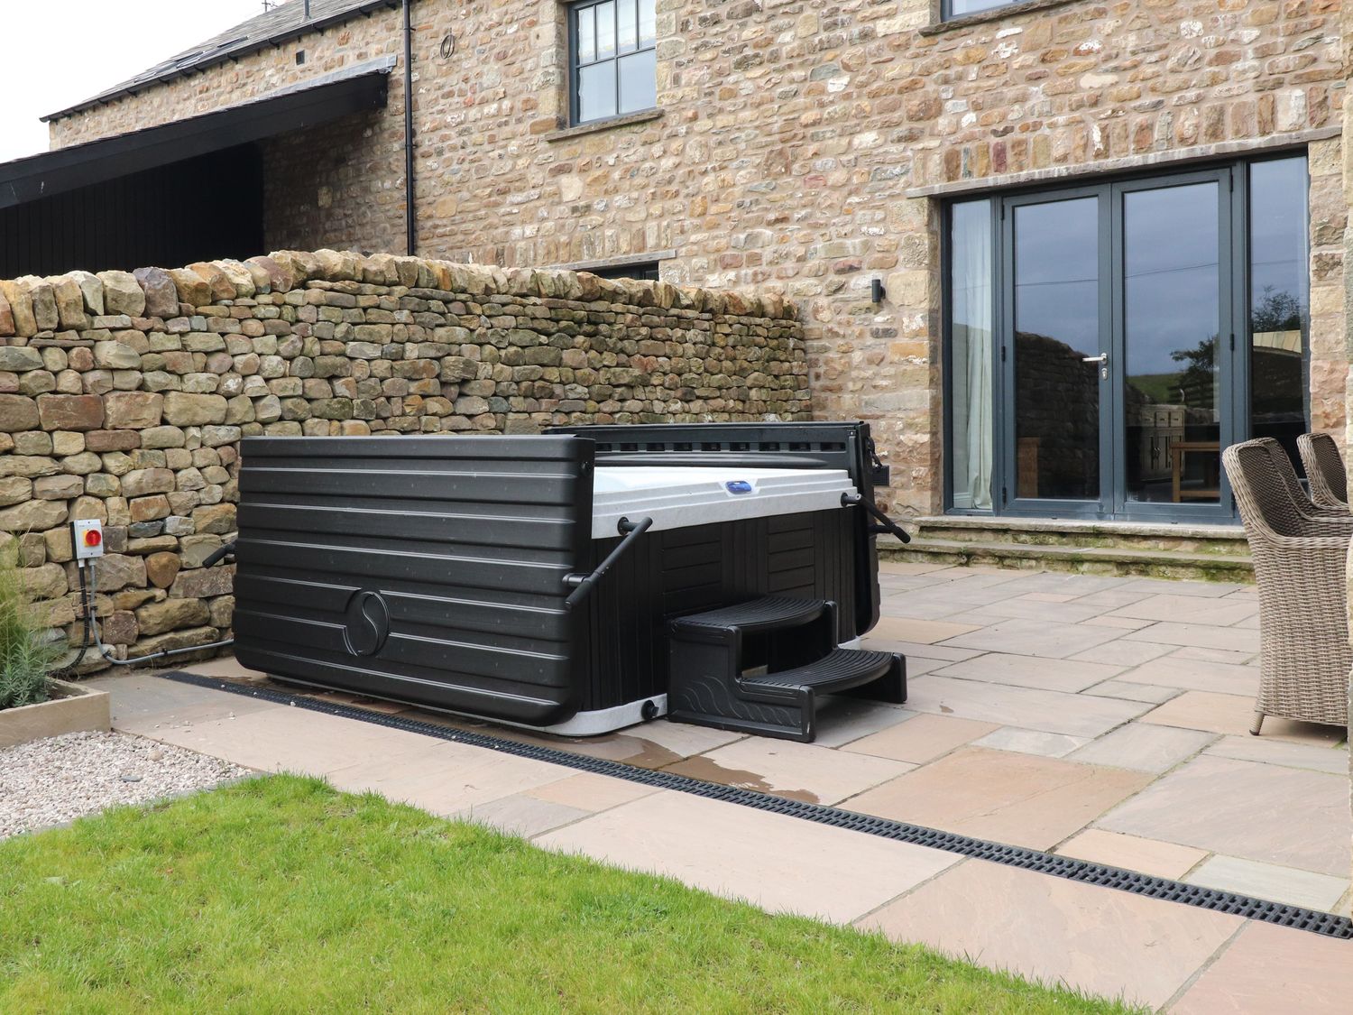
POLYGON ((1256 222, 1243 165, 951 206, 953 508, 1231 520, 1222 449, 1264 430, 1252 361, 1275 433, 1304 422, 1306 162, 1264 165, 1287 203, 1256 222), (1277 268, 1249 263, 1257 229, 1277 268), (1265 272, 1283 291, 1252 300, 1265 272))

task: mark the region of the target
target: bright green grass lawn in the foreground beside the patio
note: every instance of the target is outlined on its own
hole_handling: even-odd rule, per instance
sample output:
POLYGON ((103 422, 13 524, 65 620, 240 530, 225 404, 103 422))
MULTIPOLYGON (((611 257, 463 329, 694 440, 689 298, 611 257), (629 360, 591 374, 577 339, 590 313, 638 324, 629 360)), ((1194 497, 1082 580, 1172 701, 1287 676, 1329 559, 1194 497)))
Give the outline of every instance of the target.
POLYGON ((7 1015, 1122 1010, 303 778, 0 843, 7 1015))

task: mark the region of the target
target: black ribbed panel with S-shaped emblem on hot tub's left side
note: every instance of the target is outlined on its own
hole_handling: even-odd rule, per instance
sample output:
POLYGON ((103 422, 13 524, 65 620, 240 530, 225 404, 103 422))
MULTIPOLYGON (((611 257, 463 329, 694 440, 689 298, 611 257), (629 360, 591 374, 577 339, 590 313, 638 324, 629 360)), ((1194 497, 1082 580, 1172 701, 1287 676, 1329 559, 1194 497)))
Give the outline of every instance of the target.
POLYGON ((242 664, 532 725, 578 710, 591 441, 246 437, 241 461, 242 664))

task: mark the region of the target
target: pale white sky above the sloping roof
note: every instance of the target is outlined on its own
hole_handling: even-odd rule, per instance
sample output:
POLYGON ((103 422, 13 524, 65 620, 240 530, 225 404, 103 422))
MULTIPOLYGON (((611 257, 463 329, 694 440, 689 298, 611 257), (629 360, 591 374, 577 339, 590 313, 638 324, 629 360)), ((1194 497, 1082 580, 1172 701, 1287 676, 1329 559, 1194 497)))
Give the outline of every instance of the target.
POLYGON ((0 162, 47 150, 39 116, 262 14, 261 0, 0 0, 0 162))

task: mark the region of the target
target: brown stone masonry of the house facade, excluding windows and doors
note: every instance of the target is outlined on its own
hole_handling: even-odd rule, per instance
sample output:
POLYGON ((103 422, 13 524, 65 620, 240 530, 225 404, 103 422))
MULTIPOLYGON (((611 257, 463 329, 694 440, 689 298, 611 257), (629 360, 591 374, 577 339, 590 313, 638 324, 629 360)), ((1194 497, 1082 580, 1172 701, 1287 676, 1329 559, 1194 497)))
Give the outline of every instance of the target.
MULTIPOLYGON (((1339 0, 658 0, 659 116, 560 130, 564 5, 414 5, 421 250, 503 265, 672 252, 663 277, 802 309, 815 411, 870 420, 912 513, 940 497, 939 198, 1304 148, 1312 422, 1341 430, 1339 0), (456 39, 444 58, 438 45, 456 39), (875 306, 870 281, 884 277, 875 306)), ((382 54, 398 11, 53 125, 57 145, 382 54), (307 50, 296 66, 295 50, 307 50)), ((276 245, 402 244, 402 70, 359 129, 269 142, 276 245), (315 162, 315 175, 298 166, 315 162)))

